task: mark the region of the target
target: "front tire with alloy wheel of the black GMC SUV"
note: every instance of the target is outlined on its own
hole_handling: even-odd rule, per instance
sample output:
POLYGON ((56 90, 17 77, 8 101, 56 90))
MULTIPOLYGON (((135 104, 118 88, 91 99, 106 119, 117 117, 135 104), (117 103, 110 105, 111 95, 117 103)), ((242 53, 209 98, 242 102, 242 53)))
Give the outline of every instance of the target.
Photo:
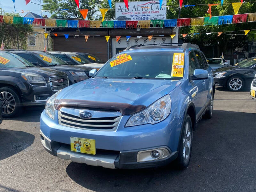
POLYGON ((11 118, 20 113, 20 97, 11 87, 0 88, 0 100, 2 101, 3 117, 11 118))

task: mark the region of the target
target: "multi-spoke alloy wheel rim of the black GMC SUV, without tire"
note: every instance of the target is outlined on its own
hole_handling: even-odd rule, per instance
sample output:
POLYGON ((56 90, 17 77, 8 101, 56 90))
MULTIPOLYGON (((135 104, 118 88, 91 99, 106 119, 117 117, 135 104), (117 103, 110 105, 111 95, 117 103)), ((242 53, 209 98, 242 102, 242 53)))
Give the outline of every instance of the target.
POLYGON ((11 114, 16 107, 14 96, 10 92, 0 92, 0 100, 2 101, 3 114, 11 114))

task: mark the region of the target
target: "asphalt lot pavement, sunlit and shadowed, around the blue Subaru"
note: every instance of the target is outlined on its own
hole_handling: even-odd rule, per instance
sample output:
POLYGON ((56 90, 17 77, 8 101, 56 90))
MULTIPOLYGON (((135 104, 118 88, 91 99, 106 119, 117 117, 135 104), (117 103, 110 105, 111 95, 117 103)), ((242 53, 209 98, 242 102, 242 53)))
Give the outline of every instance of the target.
POLYGON ((0 192, 256 191, 256 100, 217 87, 213 117, 194 132, 187 169, 112 170, 50 155, 39 139, 42 108, 0 125, 0 192))

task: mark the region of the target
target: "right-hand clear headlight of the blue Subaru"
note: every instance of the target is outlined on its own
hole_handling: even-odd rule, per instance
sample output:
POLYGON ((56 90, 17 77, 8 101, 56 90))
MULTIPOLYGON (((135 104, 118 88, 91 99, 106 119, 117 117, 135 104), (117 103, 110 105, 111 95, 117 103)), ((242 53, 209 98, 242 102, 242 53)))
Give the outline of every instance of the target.
POLYGON ((155 101, 148 108, 132 115, 127 123, 126 127, 142 125, 142 124, 156 124, 163 121, 171 111, 171 97, 170 95, 165 95, 159 100, 155 101))

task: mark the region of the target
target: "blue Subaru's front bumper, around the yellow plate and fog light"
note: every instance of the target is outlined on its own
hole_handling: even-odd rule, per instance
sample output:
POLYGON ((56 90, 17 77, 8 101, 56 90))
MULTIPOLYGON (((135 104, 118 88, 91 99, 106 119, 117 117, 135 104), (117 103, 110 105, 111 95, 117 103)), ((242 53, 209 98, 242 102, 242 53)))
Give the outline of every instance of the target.
POLYGON ((124 127, 128 118, 123 116, 116 131, 91 131, 62 126, 43 112, 40 120, 41 142, 49 153, 61 159, 112 169, 164 166, 177 157, 183 117, 175 119, 168 116, 155 125, 124 127), (71 151, 70 137, 94 139, 96 155, 71 151), (159 148, 167 149, 169 155, 163 159, 138 162, 139 151, 159 148))

